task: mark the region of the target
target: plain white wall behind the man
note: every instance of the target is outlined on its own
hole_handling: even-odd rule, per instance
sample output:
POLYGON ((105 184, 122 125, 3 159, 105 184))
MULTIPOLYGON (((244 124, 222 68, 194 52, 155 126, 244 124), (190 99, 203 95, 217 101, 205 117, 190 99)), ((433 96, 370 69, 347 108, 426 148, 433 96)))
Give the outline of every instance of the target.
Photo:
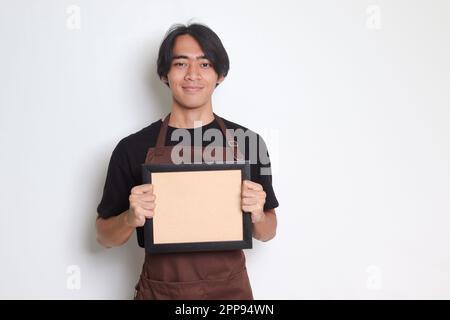
POLYGON ((272 156, 255 298, 450 298, 448 1, 0 4, 0 298, 131 298, 143 252, 97 245, 96 206, 116 143, 169 111, 155 58, 190 18, 231 59, 215 111, 272 156))

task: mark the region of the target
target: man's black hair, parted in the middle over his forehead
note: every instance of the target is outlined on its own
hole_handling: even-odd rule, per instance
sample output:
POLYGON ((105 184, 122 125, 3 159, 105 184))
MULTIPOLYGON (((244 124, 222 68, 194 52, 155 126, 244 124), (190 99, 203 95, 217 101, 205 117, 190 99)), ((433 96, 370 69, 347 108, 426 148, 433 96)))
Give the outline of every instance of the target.
MULTIPOLYGON (((226 77, 230 69, 230 61, 228 54, 222 45, 217 34, 209 27, 199 23, 192 23, 188 25, 175 24, 172 25, 164 36, 164 40, 159 47, 157 72, 161 79, 167 78, 172 63, 172 50, 175 44, 175 39, 181 35, 191 35, 203 50, 205 57, 211 61, 212 67, 218 76, 226 77)), ((169 86, 168 83, 166 83, 169 86)), ((216 84, 216 87, 219 84, 216 84)))

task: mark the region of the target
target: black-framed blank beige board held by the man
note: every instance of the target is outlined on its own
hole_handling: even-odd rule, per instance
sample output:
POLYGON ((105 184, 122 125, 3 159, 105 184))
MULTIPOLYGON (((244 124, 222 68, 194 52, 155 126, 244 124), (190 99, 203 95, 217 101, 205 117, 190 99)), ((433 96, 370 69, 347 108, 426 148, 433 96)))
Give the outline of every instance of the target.
POLYGON ((252 248, 251 216, 241 210, 248 161, 143 164, 142 175, 156 196, 155 214, 144 225, 148 252, 252 248))

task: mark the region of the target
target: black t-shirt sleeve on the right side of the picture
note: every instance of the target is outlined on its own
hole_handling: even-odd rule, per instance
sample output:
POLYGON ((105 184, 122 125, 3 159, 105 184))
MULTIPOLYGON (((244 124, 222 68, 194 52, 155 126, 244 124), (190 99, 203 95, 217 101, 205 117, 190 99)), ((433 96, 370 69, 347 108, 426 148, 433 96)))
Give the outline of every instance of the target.
POLYGON ((251 165, 251 180, 262 185, 266 193, 266 202, 264 211, 278 207, 278 200, 272 186, 272 170, 270 164, 269 151, 266 143, 260 135, 258 135, 258 156, 257 163, 251 165))

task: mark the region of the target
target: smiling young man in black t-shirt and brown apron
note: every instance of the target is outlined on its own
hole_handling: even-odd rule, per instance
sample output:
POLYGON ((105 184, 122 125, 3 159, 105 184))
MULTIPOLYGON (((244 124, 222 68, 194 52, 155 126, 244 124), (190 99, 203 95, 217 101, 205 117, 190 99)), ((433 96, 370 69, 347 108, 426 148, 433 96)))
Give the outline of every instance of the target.
MULTIPOLYGON (((219 129, 222 125, 251 132, 213 113, 212 94, 225 79, 229 60, 219 37, 210 28, 201 24, 173 26, 161 44, 157 65, 160 79, 172 92, 170 117, 122 139, 112 153, 96 221, 97 240, 107 248, 124 244, 135 230, 139 245, 143 246, 142 226, 146 218, 157 212, 158 199, 151 184, 142 184, 141 164, 159 135, 165 145, 173 146, 177 143, 172 139, 176 130, 185 130, 192 137, 198 130, 219 129), (204 125, 196 127, 199 121, 204 125)), ((251 212, 253 237, 268 241, 276 233, 278 201, 265 143, 256 136, 256 159, 249 155, 255 140, 240 145, 245 159, 253 160, 251 180, 243 181, 241 206, 243 211, 251 212)), ((201 143, 205 145, 205 141, 201 143)), ((253 299, 253 294, 243 251, 230 250, 147 253, 135 298, 253 299)))

